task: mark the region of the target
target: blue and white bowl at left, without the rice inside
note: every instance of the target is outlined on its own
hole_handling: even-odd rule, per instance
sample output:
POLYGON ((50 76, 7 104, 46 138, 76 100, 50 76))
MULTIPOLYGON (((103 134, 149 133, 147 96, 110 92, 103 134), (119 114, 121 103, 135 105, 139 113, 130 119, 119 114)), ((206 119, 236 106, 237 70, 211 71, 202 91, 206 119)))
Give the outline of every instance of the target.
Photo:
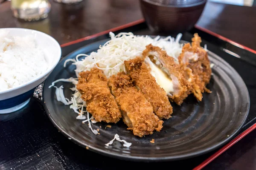
POLYGON ((47 71, 35 79, 18 87, 0 91, 0 113, 11 113, 23 108, 29 103, 35 88, 47 79, 59 62, 61 58, 61 47, 54 38, 40 31, 25 28, 1 28, 0 30, 3 29, 9 31, 10 36, 34 36, 37 46, 44 52, 44 56, 49 64, 47 71))

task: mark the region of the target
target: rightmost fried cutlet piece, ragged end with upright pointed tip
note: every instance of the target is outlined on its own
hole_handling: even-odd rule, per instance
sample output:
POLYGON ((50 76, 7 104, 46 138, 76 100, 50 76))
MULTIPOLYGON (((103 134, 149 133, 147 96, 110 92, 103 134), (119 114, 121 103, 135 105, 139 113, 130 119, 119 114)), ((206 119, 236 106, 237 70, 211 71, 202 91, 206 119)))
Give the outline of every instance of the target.
POLYGON ((185 44, 182 53, 178 57, 184 74, 192 86, 192 93, 199 101, 202 100, 204 91, 210 93, 206 85, 209 83, 212 74, 207 51, 201 48, 201 42, 201 37, 197 33, 194 34, 192 46, 189 43, 185 44))

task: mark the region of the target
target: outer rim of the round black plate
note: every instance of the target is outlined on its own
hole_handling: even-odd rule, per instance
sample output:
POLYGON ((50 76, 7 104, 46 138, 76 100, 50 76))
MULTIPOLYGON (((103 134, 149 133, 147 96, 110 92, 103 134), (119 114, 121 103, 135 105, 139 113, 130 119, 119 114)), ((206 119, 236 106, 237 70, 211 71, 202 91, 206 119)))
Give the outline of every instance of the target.
MULTIPOLYGON (((155 36, 152 36, 152 35, 148 35, 150 37, 155 37, 155 36)), ((161 36, 163 37, 163 36, 161 36)), ((85 47, 88 47, 88 46, 93 46, 93 45, 96 45, 96 44, 99 44, 100 42, 107 42, 109 40, 108 39, 104 39, 104 40, 99 40, 99 41, 96 41, 96 42, 92 42, 92 43, 89 43, 87 45, 84 45, 72 52, 70 52, 69 54, 67 54, 65 57, 63 57, 58 64, 60 64, 63 60, 66 60, 66 58, 68 58, 70 55, 72 55, 73 53, 76 53, 77 51, 80 51, 81 49, 85 48, 85 47)), ((181 41, 183 42, 186 42, 185 40, 182 40, 181 41)), ((235 68, 233 68, 228 62, 226 62, 223 58, 219 57, 217 54, 215 54, 214 52, 212 51, 209 51, 207 50, 207 52, 211 52, 212 54, 216 55, 216 57, 218 58, 218 60, 220 60, 222 63, 224 63, 225 65, 229 66, 230 69, 232 69, 232 71, 234 73, 236 73, 240 79, 242 80, 240 83, 242 83, 242 85, 245 87, 244 88, 244 91, 246 91, 246 96, 247 96, 247 101, 248 101, 248 104, 247 104, 247 108, 246 108, 246 115, 244 116, 244 120, 241 122, 241 125, 236 129, 236 131, 228 136, 226 139, 224 139, 223 141, 221 142, 218 142, 216 144, 214 144, 212 147, 208 147, 204 150, 200 150, 200 151, 196 151, 196 152, 193 152, 193 153, 187 153, 187 154, 183 154, 183 155, 180 155, 180 156, 166 156, 166 157, 145 157, 145 156, 125 156, 125 155, 122 155, 122 154, 119 154, 119 153, 112 153, 112 152, 107 152, 106 150, 102 150, 98 147, 93 147, 93 146, 90 146, 89 144, 87 143, 83 143, 81 141, 79 141, 78 139, 75 139, 73 136, 69 135, 67 132, 65 132, 63 129, 61 129, 61 127, 54 121, 54 119, 52 118, 52 116, 50 115, 49 113, 49 110, 47 109, 47 106, 46 106, 46 102, 44 100, 44 91, 45 91, 45 88, 46 86, 44 85, 44 88, 43 88, 43 104, 44 104, 44 109, 45 111, 47 112, 47 116, 49 117, 49 119, 51 120, 52 124, 64 135, 66 136, 68 139, 70 139, 72 142, 74 142, 75 144, 78 144, 79 146, 81 147, 89 147, 89 149, 87 150, 91 150, 95 153, 99 153, 99 154, 102 154, 104 156, 110 156, 110 157, 113 157, 113 158, 117 158, 117 159, 122 159, 122 160, 128 160, 128 161, 143 161, 143 162, 157 162, 157 161, 176 161, 176 160, 183 160, 183 159, 189 159, 189 158, 192 158, 192 157, 195 157, 195 156, 200 156, 200 155, 203 155, 203 154, 206 154, 206 153, 209 153, 210 151, 214 150, 214 149, 217 149, 218 147, 221 147, 223 146, 224 144, 226 144, 227 142, 231 141, 231 139, 233 139, 233 136, 235 136, 239 130, 241 130, 242 126, 244 125, 244 122, 246 121, 247 119, 247 116, 248 116, 248 113, 249 113, 249 110, 250 110, 250 95, 249 95, 249 91, 247 89, 247 86, 244 82, 244 80, 242 79, 242 77, 240 76, 240 74, 236 71, 235 68)), ((57 64, 57 65, 58 65, 57 64)), ((54 70, 53 70, 54 71, 54 70)), ((52 71, 52 72, 53 72, 52 71)), ((52 74, 52 73, 51 73, 52 74)), ((50 75, 49 75, 50 76, 50 75)), ((45 83, 45 82, 44 82, 45 83)))

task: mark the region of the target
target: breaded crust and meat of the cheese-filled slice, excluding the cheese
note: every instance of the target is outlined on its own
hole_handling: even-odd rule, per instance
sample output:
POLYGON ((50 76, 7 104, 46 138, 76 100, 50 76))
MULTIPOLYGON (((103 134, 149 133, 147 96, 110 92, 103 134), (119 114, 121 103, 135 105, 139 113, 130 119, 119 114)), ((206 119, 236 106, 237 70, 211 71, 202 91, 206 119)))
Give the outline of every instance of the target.
POLYGON ((172 91, 166 91, 167 96, 177 105, 181 105, 183 100, 190 94, 190 86, 180 65, 175 62, 173 57, 167 55, 166 51, 151 44, 146 46, 142 55, 147 64, 153 63, 172 80, 172 91))

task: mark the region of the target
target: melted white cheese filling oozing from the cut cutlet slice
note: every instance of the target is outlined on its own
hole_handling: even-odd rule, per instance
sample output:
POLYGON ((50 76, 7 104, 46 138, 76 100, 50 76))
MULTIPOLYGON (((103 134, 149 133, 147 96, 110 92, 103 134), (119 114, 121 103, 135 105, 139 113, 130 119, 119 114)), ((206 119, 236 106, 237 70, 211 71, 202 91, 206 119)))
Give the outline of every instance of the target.
POLYGON ((172 80, 160 68, 158 68, 157 65, 151 62, 148 57, 146 58, 146 62, 150 66, 150 73, 156 79, 157 84, 166 91, 166 94, 173 93, 174 89, 172 80))

